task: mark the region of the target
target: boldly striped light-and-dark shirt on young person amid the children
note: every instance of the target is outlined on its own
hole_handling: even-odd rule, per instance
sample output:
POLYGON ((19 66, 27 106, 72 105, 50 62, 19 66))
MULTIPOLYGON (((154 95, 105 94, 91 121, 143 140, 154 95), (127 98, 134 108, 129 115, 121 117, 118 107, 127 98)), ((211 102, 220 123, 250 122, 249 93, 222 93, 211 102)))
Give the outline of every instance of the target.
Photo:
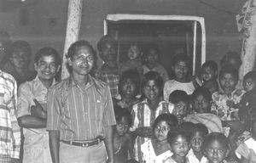
MULTIPOLYGON (((131 126, 130 131, 134 132, 137 128, 143 126, 152 126, 154 120, 158 115, 164 113, 172 113, 174 109, 174 105, 166 102, 161 101, 156 110, 150 110, 148 106, 148 100, 144 99, 141 103, 135 104, 132 107, 131 115, 133 120, 133 126, 131 126)), ((141 152, 141 145, 148 141, 148 138, 141 138, 137 137, 135 144, 134 144, 134 153, 136 160, 142 162, 143 153, 141 152)))

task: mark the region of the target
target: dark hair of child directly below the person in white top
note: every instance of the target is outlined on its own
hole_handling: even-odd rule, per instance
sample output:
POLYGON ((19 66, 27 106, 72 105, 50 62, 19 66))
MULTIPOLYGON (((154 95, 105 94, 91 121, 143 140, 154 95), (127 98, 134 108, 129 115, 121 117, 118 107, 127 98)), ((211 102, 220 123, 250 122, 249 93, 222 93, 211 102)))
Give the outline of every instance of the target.
POLYGON ((170 94, 169 101, 172 104, 176 104, 181 101, 188 104, 189 103, 189 95, 184 91, 175 90, 170 94))

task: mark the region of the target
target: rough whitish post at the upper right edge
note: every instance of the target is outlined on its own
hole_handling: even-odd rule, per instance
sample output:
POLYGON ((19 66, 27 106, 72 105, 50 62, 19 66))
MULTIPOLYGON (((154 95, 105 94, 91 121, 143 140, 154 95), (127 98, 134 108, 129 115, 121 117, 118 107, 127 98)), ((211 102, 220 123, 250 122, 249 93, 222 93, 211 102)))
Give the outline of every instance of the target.
POLYGON ((243 76, 253 70, 256 53, 256 0, 248 0, 241 14, 236 15, 238 31, 242 32, 241 68, 239 70, 239 86, 242 87, 243 76), (239 22, 239 20, 241 20, 239 22))

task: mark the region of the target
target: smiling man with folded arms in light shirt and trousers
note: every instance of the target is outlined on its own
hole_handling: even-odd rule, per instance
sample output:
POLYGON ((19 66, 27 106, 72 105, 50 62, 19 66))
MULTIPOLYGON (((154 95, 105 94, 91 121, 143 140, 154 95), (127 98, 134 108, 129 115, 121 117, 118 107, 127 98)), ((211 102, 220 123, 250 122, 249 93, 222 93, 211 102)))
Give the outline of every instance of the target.
POLYGON ((46 126, 46 95, 55 84, 55 75, 60 70, 61 59, 54 48, 41 48, 35 56, 38 76, 31 82, 22 83, 18 90, 18 121, 23 127, 23 162, 49 163, 49 136, 46 126), (44 155, 44 156, 43 156, 44 155))

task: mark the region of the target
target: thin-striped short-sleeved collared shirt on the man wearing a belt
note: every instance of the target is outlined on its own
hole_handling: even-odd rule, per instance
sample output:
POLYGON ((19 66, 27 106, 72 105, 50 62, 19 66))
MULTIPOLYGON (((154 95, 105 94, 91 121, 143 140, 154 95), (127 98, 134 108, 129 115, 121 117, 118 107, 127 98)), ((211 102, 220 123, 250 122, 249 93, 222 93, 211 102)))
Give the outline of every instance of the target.
POLYGON ((105 82, 89 78, 82 90, 68 77, 49 89, 47 130, 60 131, 61 140, 86 141, 104 137, 115 125, 113 102, 105 82))

